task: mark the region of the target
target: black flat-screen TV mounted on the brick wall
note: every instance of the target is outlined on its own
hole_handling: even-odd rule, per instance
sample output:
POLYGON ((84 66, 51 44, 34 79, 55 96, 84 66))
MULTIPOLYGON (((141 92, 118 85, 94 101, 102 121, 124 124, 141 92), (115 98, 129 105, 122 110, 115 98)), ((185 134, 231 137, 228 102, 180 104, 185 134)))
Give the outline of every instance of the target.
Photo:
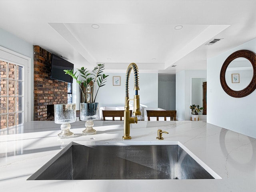
POLYGON ((65 74, 65 69, 74 69, 74 64, 52 54, 51 79, 72 83, 73 78, 65 74))

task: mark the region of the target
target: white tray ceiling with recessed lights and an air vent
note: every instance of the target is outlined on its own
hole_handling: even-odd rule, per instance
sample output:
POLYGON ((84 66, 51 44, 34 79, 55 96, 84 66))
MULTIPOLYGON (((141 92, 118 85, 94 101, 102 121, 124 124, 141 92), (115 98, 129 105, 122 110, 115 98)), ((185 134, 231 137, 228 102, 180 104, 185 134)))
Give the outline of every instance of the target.
POLYGON ((105 63, 106 72, 131 62, 139 72, 206 70, 207 58, 256 38, 256 0, 0 0, 0 8, 0 28, 75 68, 105 63), (212 38, 223 40, 205 45, 212 38))

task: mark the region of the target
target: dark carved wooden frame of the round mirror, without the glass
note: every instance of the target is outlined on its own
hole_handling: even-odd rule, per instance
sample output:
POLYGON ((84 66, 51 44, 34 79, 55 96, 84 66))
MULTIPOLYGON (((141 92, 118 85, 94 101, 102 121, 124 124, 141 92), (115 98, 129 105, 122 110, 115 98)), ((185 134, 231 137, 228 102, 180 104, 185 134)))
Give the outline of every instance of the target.
POLYGON ((230 95, 232 97, 241 98, 241 97, 248 96, 256 89, 256 74, 255 74, 255 72, 256 72, 256 54, 254 52, 248 51, 248 50, 236 51, 236 52, 232 53, 230 56, 228 56, 228 58, 226 58, 226 60, 224 61, 223 65, 222 65, 222 68, 220 70, 220 84, 221 84, 223 90, 228 95, 230 95), (240 91, 234 91, 227 85, 226 79, 225 79, 225 73, 228 68, 228 65, 234 59, 239 58, 239 57, 244 57, 251 62, 252 68, 253 68, 253 76, 252 76, 252 80, 251 80, 250 84, 246 88, 244 88, 243 90, 240 90, 240 91))

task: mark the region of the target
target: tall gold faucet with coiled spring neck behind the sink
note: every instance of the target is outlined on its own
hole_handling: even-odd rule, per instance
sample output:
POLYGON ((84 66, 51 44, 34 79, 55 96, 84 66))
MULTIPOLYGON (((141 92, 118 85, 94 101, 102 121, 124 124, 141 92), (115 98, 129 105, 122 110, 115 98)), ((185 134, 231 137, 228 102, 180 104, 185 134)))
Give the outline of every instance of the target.
POLYGON ((125 76, 125 104, 124 104, 124 136, 123 139, 131 139, 130 136, 130 124, 131 123, 138 123, 137 115, 141 115, 140 112, 140 96, 138 95, 139 88, 139 78, 138 78, 138 66, 135 63, 131 63, 126 71, 125 76), (134 71, 134 90, 135 95, 134 99, 129 99, 129 77, 131 70, 134 71), (135 117, 130 117, 130 107, 129 107, 129 101, 134 100, 134 110, 133 115, 135 117))

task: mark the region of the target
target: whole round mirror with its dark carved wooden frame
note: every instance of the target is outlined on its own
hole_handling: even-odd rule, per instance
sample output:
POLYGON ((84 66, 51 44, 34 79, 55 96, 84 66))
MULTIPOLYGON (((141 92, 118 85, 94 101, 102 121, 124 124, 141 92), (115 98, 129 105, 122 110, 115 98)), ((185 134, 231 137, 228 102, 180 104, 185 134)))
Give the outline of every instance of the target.
POLYGON ((256 88, 256 54, 248 50, 232 53, 222 65, 220 83, 230 96, 240 98, 256 88))

